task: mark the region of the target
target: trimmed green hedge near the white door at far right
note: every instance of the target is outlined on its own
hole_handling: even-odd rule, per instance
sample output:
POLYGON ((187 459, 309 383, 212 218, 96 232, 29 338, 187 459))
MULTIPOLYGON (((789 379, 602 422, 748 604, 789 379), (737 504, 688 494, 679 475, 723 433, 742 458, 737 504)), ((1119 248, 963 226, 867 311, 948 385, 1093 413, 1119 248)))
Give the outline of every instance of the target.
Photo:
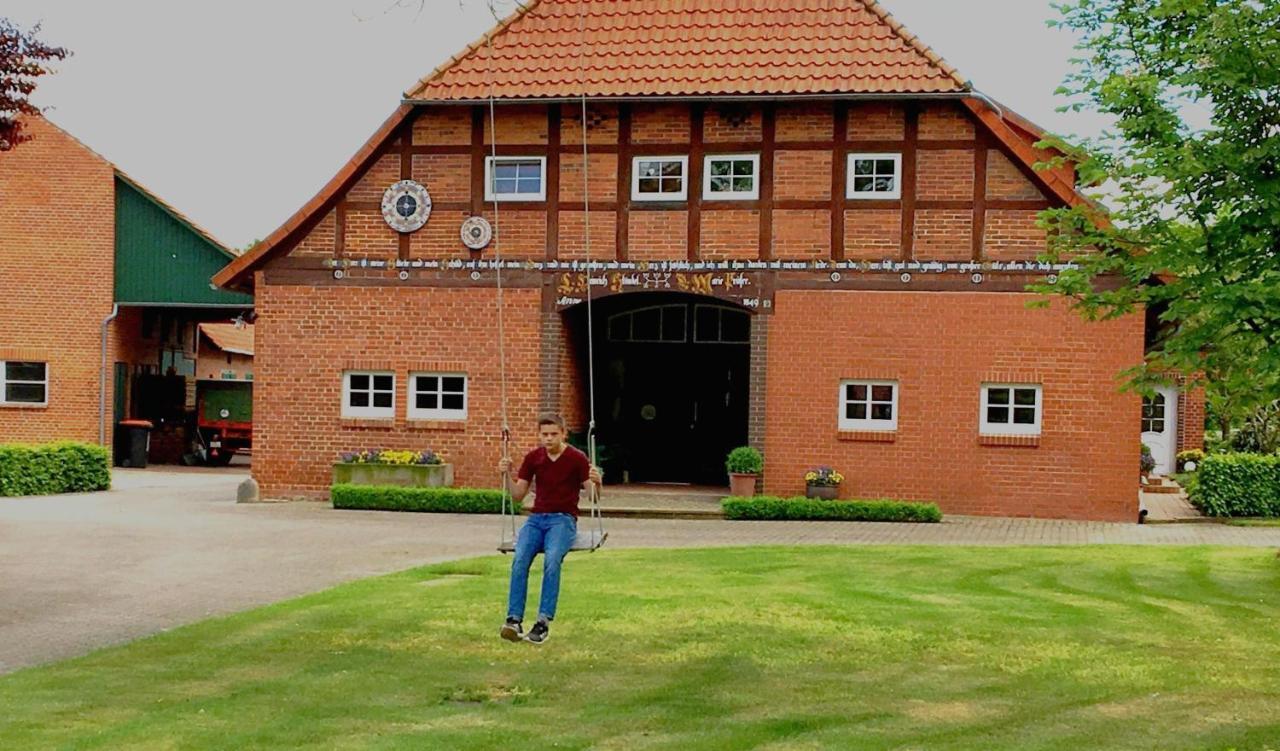
POLYGON ((1280 457, 1210 454, 1192 500, 1211 517, 1280 517, 1280 457))

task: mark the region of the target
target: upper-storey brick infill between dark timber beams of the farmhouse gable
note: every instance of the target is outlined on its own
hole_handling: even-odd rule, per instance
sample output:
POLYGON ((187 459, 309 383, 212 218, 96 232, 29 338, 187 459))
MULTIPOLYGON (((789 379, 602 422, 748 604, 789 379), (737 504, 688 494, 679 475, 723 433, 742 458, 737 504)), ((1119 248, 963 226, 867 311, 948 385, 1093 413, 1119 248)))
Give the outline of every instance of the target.
MULTIPOLYGON (((581 215, 576 206, 585 198, 582 188, 582 155, 573 148, 581 143, 581 111, 576 105, 557 105, 561 118, 559 138, 567 147, 553 159, 548 152, 548 107, 544 105, 507 105, 498 107, 498 142, 522 146, 529 156, 545 156, 548 164, 558 161, 558 191, 545 202, 508 205, 500 211, 499 233, 506 238, 503 255, 521 258, 543 258, 548 252, 548 232, 556 232, 553 252, 567 260, 584 255, 581 215), (559 203, 559 205, 557 205, 559 203), (557 226, 548 221, 558 212, 557 226)), ((858 142, 874 141, 877 151, 908 148, 908 110, 901 104, 851 102, 847 105, 845 136, 852 139, 847 152, 864 150, 858 142), (884 145, 883 142, 890 142, 884 145), (902 141, 901 146, 892 145, 902 141)), ((474 159, 471 150, 472 114, 479 113, 488 143, 489 113, 481 107, 424 107, 416 115, 410 133, 412 146, 421 147, 411 155, 411 174, 422 182, 435 203, 430 221, 410 234, 410 258, 471 258, 472 253, 458 239, 461 223, 479 202, 492 212, 483 196, 472 196, 474 159), (430 154, 424 150, 433 150, 430 154), (454 150, 443 154, 440 150, 454 150)), ((762 198, 774 202, 772 210, 760 202, 736 207, 717 201, 699 210, 699 242, 705 247, 687 248, 690 207, 701 200, 701 184, 689 184, 689 198, 669 205, 648 205, 637 210, 630 202, 630 180, 620 186, 620 171, 630 171, 631 156, 690 155, 695 137, 694 111, 678 102, 631 105, 627 139, 632 154, 620 164, 617 154, 599 147, 617 147, 622 137, 618 105, 593 105, 588 114, 588 141, 596 146, 589 156, 589 191, 593 206, 607 207, 607 215, 593 223, 593 246, 600 260, 626 256, 631 260, 698 258, 833 258, 854 260, 914 258, 918 261, 965 261, 973 258, 974 215, 972 206, 977 180, 977 159, 984 159, 988 201, 1041 201, 1047 196, 1016 168, 987 137, 986 148, 978 148, 978 129, 973 118, 955 102, 918 102, 915 156, 916 180, 914 198, 914 232, 904 238, 904 201, 877 202, 872 209, 851 202, 837 207, 844 212, 844 247, 832 247, 831 209, 815 206, 832 198, 836 169, 844 169, 846 151, 808 148, 835 138, 835 105, 831 102, 778 104, 773 107, 773 134, 778 143, 772 164, 772 196, 762 189, 762 198), (945 143, 940 143, 945 141, 945 143), (964 142, 974 143, 965 147, 964 142), (931 146, 932 142, 932 146, 931 146), (792 145, 792 146, 787 146, 792 145), (940 148, 941 147, 941 148, 940 148), (620 189, 622 194, 620 196, 620 189), (946 202, 945 206, 929 202, 946 202), (959 203, 959 205, 957 205, 959 203), (724 228, 740 221, 750 211, 758 232, 744 225, 732 237, 724 228), (819 216, 819 214, 824 214, 819 216), (618 232, 618 221, 626 226, 618 232), (772 224, 772 228, 769 226, 772 224), (613 228, 613 229, 609 229, 613 228), (822 228, 826 228, 823 234, 822 228), (796 230, 795 233, 791 230, 796 230), (617 247, 622 237, 627 246, 617 247), (760 241, 771 247, 765 247, 760 241), (902 246, 910 242, 908 252, 902 246), (726 244, 728 243, 728 244, 726 244), (608 256, 605 256, 608 253, 608 256)), ((763 152, 764 110, 760 105, 707 105, 700 109, 703 152, 763 152), (724 146, 719 146, 724 145, 724 146), (751 145, 759 145, 753 148, 751 145)), ((340 246, 348 256, 394 257, 399 249, 397 233, 385 226, 376 202, 388 186, 399 179, 399 143, 393 141, 375 157, 352 189, 340 197, 335 217, 325 217, 310 235, 298 243, 301 253, 326 255, 326 248, 340 246), (337 220, 340 216, 342 223, 337 220)), ((481 146, 484 154, 488 148, 481 146)), ((690 173, 701 170, 691 164, 690 173)), ((760 175, 763 180, 763 175, 760 175)), ((692 174, 690 175, 692 182, 692 174)), ((548 183, 553 180, 548 179, 548 183)), ((550 186, 548 186, 550 187, 550 186)), ((765 188, 765 186, 762 186, 765 188)), ((844 187, 841 187, 841 193, 844 187)), ((842 196, 840 196, 842 198, 842 196)), ((1046 202, 1047 205, 1047 202, 1046 202)), ((1036 226, 1036 210, 1021 206, 988 206, 982 232, 979 260, 1030 260, 1044 248, 1044 234, 1036 226)), ((837 215, 838 217, 838 215, 837 215)), ((492 216, 490 216, 492 219, 492 216)), ((837 242, 841 238, 837 237, 837 242)), ((593 253, 596 257, 596 253, 593 253)))

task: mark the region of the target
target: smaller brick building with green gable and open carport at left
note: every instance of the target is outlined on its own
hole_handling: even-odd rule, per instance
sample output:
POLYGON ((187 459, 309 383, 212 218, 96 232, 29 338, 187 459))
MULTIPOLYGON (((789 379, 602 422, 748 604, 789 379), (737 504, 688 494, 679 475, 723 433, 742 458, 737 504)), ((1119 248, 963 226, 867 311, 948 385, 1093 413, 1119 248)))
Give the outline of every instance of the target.
POLYGON ((210 289, 236 255, 49 120, 24 125, 32 139, 0 152, 0 443, 111 445, 155 407, 154 448, 182 454, 180 417, 164 420, 188 400, 195 321, 252 311, 210 289))

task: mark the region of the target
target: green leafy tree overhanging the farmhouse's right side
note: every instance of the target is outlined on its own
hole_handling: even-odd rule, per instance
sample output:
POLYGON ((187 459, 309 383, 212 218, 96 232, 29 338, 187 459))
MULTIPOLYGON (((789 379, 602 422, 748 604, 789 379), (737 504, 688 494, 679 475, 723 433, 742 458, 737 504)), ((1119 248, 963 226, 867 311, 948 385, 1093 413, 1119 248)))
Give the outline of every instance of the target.
MULTIPOLYGON (((1280 3, 1071 0, 1083 56, 1066 109, 1114 127, 1051 139, 1107 206, 1047 211, 1044 293, 1091 319, 1146 311, 1135 385, 1203 377, 1224 413, 1280 397, 1280 3)), ((1221 418, 1222 415, 1219 415, 1221 418)))

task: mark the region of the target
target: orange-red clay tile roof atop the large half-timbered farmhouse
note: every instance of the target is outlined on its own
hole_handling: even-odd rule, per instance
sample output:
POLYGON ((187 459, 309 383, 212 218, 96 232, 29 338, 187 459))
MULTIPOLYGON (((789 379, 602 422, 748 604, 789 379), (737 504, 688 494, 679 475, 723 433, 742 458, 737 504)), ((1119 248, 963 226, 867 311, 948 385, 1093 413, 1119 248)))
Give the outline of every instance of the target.
POLYGON ((488 99, 490 79, 498 99, 969 90, 874 0, 532 0, 404 97, 488 99))

